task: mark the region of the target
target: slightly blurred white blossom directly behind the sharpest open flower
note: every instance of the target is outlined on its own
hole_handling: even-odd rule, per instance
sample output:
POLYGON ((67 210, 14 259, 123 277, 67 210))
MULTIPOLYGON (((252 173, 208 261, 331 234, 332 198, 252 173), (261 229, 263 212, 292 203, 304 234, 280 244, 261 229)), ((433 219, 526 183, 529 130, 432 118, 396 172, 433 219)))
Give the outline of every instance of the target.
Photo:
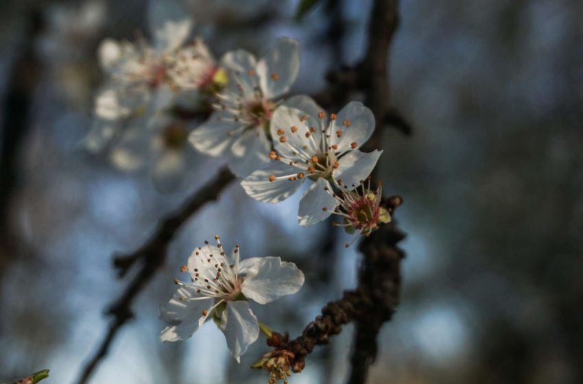
POLYGON ((245 177, 269 162, 270 120, 278 98, 298 75, 299 44, 280 38, 259 62, 246 51, 232 51, 222 58, 221 67, 228 84, 216 95, 215 112, 192 132, 190 141, 204 154, 228 154, 231 171, 245 177))

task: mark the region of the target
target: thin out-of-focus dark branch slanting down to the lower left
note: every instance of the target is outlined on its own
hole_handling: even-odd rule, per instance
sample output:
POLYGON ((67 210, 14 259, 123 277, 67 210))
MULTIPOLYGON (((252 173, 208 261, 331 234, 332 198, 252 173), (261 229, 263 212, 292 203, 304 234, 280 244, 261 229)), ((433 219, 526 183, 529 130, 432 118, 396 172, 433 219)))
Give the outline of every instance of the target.
POLYGON ((136 263, 140 263, 139 272, 132 278, 130 284, 126 287, 126 291, 108 308, 107 314, 113 317, 112 323, 99 348, 84 366, 77 381, 78 384, 88 381, 99 362, 106 357, 109 347, 120 328, 132 318, 134 299, 147 283, 150 283, 158 268, 165 262, 168 245, 174 239, 180 226, 204 204, 217 200, 223 189, 234 179, 235 176, 228 169, 221 169, 215 178, 196 191, 180 208, 160 221, 152 237, 136 252, 126 256, 115 257, 114 264, 119 269, 120 276, 126 275, 136 263))

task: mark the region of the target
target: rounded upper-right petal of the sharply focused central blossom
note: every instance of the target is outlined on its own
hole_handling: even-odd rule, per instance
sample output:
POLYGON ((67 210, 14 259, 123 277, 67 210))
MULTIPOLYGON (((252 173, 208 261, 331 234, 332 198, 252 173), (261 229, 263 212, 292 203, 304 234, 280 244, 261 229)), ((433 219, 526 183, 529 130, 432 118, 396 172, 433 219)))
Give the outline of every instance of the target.
POLYGON ((374 115, 372 111, 359 101, 350 101, 340 112, 338 117, 332 122, 331 144, 337 144, 337 152, 359 148, 366 143, 370 135, 374 132, 374 115), (344 125, 345 121, 349 121, 344 125), (340 139, 336 132, 342 131, 340 139), (356 146, 351 147, 352 143, 356 146))

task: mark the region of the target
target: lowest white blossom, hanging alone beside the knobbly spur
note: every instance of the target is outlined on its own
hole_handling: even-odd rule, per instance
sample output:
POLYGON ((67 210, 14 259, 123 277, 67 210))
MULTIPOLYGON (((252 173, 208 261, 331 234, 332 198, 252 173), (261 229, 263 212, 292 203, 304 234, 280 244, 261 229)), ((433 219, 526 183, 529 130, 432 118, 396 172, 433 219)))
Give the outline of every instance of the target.
POLYGON ((215 240, 216 246, 205 241, 203 247, 196 248, 188 264, 180 268, 189 274, 190 281, 174 280, 178 289, 161 309, 160 317, 169 325, 160 333, 160 340, 188 339, 207 319, 213 319, 239 361, 259 337, 259 321, 248 300, 267 304, 291 295, 300 290, 305 278, 294 263, 278 257, 239 262, 239 245, 227 255, 218 236, 215 240))

